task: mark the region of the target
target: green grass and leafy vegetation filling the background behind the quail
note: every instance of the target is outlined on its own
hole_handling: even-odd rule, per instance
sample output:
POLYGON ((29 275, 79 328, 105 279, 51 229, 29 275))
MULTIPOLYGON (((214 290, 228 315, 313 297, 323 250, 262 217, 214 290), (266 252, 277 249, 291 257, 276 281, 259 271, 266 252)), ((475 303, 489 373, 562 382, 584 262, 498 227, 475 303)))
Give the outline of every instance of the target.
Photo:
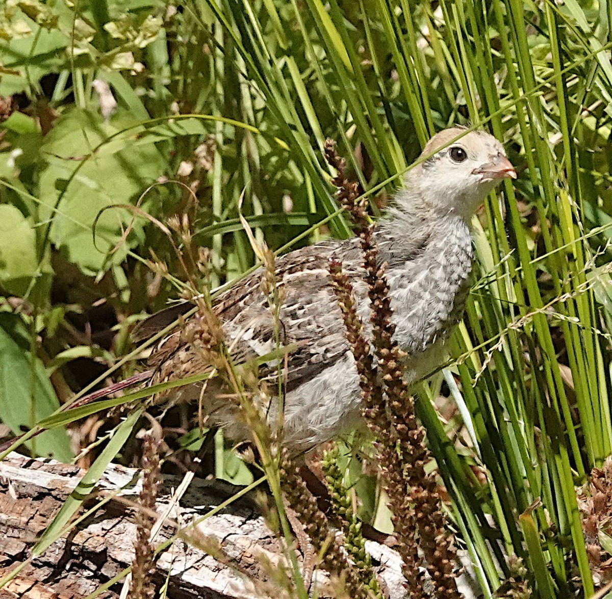
MULTIPOLYGON (((274 249, 349 235, 327 137, 376 211, 431 134, 484 127, 519 177, 474 219, 477 281, 453 363, 420 389, 421 417, 485 596, 512 575, 511 554, 538 596, 589 595, 611 546, 606 510, 580 496, 612 445, 611 26, 606 0, 6 0, 2 434, 110 367, 136 368, 130 327, 185 278, 143 213, 189 215, 216 286, 255 262, 243 190, 274 249)), ((71 460, 114 424, 96 414, 21 449, 71 460)), ((188 432, 179 415, 168 435, 188 444, 188 432)), ((217 474, 248 480, 216 439, 217 474)), ((341 462, 362 516, 384 527, 375 479, 341 462)))

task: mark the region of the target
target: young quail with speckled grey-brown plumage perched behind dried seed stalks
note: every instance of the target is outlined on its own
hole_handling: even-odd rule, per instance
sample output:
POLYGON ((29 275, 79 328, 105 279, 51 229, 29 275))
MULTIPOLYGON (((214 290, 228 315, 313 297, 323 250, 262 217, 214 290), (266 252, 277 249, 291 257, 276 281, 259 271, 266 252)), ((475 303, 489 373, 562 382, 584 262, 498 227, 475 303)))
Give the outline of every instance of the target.
MULTIPOLYGON (((502 179, 516 177, 502 145, 484 131, 441 131, 425 145, 422 157, 408 171, 375 232, 379 259, 387 263, 394 339, 407 354, 406 376, 412 381, 438 366, 444 341, 463 313, 472 269, 469 221, 474 211, 502 179)), ((363 255, 355 238, 323 241, 277 259, 276 277, 284 297, 276 325, 261 288, 261 269, 212 305, 234 362, 271 353, 279 329, 282 344, 293 347, 283 369, 282 438, 294 454, 360 422, 359 377, 331 284, 330 260, 341 262, 353 284, 357 312, 362 322, 369 322, 363 255)), ((157 317, 154 326, 167 325, 189 307, 168 309, 167 318, 157 317)), ((211 369, 194 347, 193 335, 185 335, 190 326, 198 326, 197 318, 157 345, 149 358, 153 382, 211 369)), ((145 322, 138 338, 154 332, 145 322)), ((276 362, 261 365, 260 377, 266 377, 266 369, 270 378, 277 376, 276 362)), ((249 438, 237 416, 237 403, 222 383, 190 384, 173 394, 174 399, 200 402, 207 424, 225 428, 230 438, 249 438)), ((277 422, 278 399, 271 395, 267 414, 277 422)))

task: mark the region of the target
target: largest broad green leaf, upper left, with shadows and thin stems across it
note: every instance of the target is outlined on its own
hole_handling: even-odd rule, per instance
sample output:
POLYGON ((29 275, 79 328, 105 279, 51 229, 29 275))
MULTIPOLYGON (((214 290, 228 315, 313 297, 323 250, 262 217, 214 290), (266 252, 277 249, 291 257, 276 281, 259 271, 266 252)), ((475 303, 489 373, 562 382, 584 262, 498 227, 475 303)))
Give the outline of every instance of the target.
MULTIPOLYGON (((126 121, 129 116, 121 120, 126 121)), ((40 174, 40 199, 45 205, 41 219, 51 218, 51 241, 70 262, 90 274, 121 262, 129 248, 143 241, 143 227, 148 223, 135 218, 127 241, 110 255, 134 215, 125 209, 106 210, 97 222, 96 246, 92 227, 100 210, 135 205, 165 166, 154 145, 132 147, 125 138, 113 142, 114 153, 91 155, 100 142, 118 131, 92 112, 71 111, 58 120, 42 147, 48 160, 40 174)), ((146 210, 147 202, 141 207, 146 210)))

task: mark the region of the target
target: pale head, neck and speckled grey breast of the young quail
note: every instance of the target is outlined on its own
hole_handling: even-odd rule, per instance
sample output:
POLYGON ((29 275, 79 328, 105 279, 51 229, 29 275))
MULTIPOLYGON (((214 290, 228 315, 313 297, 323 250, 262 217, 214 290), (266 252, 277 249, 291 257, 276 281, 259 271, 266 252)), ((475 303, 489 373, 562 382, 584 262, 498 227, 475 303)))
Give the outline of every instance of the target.
MULTIPOLYGON (((460 320, 472 269, 469 220, 509 177, 516 172, 497 139, 458 127, 433 137, 408 171, 376 241, 388 265, 395 341, 409 355, 444 340, 460 320)), ((436 364, 413 376, 427 366, 436 364)))

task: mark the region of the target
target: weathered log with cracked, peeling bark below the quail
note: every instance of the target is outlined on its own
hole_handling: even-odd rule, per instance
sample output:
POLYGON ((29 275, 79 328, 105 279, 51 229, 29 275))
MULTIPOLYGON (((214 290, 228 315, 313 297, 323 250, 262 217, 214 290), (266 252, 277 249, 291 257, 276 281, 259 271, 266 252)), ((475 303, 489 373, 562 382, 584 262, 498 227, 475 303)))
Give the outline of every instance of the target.
MULTIPOLYGON (((76 466, 53 460, 29 459, 11 454, 0 463, 0 577, 29 557, 29 550, 74 490, 83 475, 76 466)), ((157 503, 157 512, 165 513, 170 504, 168 491, 179 480, 165 480, 157 503)), ((132 562, 132 543, 136 526, 131 502, 138 501, 138 471, 111 465, 97 485, 87 507, 92 507, 110 491, 116 498, 95 510, 64 538, 20 571, 0 589, 0 599, 63 599, 85 597, 101 584, 118 575, 132 562)), ((170 523, 155 538, 162 542, 175 534, 180 522, 187 526, 219 505, 237 488, 218 480, 194 480, 174 506, 170 523)), ((248 597, 261 599, 267 593, 263 562, 282 563, 280 540, 266 527, 250 497, 232 502, 219 513, 198 524, 203 538, 213 539, 223 548, 229 565, 222 564, 193 543, 176 540, 157 561, 159 584, 168 577, 167 597, 188 599, 225 599, 248 597), (253 584, 253 579, 256 584, 253 584)), ((201 544, 200 544, 201 545, 201 544)), ((392 549, 368 542, 379 575, 386 582, 392 599, 405 596, 401 585, 400 559, 392 549)), ((326 576, 315 578, 324 584, 326 576)), ((121 584, 99 595, 103 599, 119 597, 121 584)))

